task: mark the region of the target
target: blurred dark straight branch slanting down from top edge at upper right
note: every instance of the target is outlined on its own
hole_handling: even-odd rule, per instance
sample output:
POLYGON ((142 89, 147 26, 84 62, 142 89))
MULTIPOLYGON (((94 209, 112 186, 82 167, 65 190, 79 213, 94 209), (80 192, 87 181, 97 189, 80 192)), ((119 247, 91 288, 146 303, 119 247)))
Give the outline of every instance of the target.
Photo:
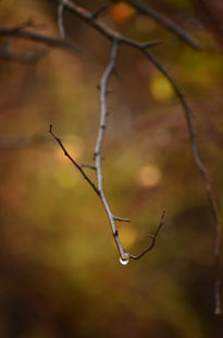
MULTIPOLYGON (((119 0, 111 0, 111 1, 119 2, 119 0)), ((185 41, 190 47, 198 49, 198 50, 202 49, 200 43, 196 40, 188 32, 184 31, 176 23, 165 17, 161 13, 157 12, 156 10, 150 8, 148 4, 139 2, 137 0, 126 0, 125 2, 128 2, 131 5, 133 5, 139 13, 144 15, 148 15, 154 21, 157 21, 163 27, 165 27, 166 29, 169 29, 170 32, 178 36, 183 41, 185 41)))

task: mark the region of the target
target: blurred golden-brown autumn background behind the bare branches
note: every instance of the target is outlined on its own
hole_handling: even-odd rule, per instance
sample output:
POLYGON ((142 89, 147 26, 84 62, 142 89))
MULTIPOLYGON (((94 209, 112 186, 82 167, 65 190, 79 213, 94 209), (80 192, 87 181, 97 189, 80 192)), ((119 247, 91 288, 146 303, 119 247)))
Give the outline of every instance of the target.
MULTIPOLYGON (((162 40, 153 52, 193 108, 221 216, 222 3, 145 2, 190 32, 205 50, 193 50, 123 3, 111 4, 101 19, 139 41, 162 40)), ((96 10, 104 2, 78 3, 96 10)), ((179 101, 140 52, 122 46, 122 80, 110 83, 103 171, 112 210, 132 219, 119 225, 127 251, 147 246, 166 208, 154 250, 122 266, 97 195, 48 133, 53 123, 73 157, 92 164, 97 85, 110 44, 75 16, 64 17, 67 38, 82 53, 50 49, 29 65, 0 59, 0 336, 220 337, 213 219, 179 101)), ((1 1, 1 25, 29 19, 33 29, 59 36, 55 1, 1 1)), ((40 46, 14 40, 13 48, 40 46)))

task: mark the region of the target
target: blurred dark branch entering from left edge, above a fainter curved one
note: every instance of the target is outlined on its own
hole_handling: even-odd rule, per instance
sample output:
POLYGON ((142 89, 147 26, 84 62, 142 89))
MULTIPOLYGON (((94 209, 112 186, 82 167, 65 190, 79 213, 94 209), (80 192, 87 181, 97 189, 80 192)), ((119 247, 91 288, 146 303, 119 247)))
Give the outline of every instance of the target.
POLYGON ((79 47, 74 44, 67 43, 64 39, 47 36, 42 34, 37 34, 28 29, 21 29, 21 27, 4 27, 0 26, 0 36, 14 36, 16 38, 24 38, 36 43, 41 43, 50 47, 58 47, 63 49, 69 49, 71 51, 80 51, 79 47))

